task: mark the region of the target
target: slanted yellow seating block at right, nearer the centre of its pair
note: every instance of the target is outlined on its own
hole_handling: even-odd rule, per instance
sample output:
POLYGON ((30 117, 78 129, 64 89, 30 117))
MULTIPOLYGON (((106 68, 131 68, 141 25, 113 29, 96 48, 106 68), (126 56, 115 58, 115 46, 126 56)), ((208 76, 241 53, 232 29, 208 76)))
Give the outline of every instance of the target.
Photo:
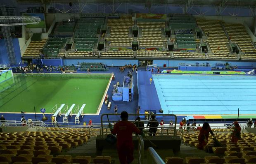
POLYGON ((235 55, 229 55, 228 38, 225 35, 223 28, 218 20, 196 19, 197 25, 204 30, 204 33, 209 36, 207 42, 210 45, 214 55, 209 55, 209 58, 216 59, 236 59, 235 55))

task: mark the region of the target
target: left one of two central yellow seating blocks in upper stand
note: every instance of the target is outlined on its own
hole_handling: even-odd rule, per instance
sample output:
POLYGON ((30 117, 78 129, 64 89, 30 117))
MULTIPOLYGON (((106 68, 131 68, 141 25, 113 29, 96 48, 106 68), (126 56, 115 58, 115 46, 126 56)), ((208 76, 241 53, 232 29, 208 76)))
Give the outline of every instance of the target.
POLYGON ((110 37, 105 37, 109 46, 131 46, 133 41, 129 35, 129 27, 134 24, 132 16, 120 16, 120 18, 108 18, 107 26, 111 27, 110 37))

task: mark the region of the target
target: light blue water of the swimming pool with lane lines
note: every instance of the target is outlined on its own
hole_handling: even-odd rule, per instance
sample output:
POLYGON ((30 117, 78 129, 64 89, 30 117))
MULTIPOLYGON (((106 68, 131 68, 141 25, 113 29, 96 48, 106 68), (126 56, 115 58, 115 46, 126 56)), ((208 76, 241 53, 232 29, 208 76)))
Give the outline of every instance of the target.
POLYGON ((256 76, 152 75, 164 113, 256 113, 256 76))

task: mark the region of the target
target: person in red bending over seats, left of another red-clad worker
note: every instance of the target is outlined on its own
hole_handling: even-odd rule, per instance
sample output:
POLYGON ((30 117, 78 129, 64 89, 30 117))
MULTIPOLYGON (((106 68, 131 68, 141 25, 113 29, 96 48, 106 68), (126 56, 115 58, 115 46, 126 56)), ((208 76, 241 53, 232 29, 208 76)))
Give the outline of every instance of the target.
POLYGON ((209 133, 214 138, 213 131, 211 130, 211 127, 208 122, 204 122, 203 127, 200 129, 200 134, 198 135, 198 142, 197 148, 204 149, 204 146, 206 146, 209 138, 209 133))

